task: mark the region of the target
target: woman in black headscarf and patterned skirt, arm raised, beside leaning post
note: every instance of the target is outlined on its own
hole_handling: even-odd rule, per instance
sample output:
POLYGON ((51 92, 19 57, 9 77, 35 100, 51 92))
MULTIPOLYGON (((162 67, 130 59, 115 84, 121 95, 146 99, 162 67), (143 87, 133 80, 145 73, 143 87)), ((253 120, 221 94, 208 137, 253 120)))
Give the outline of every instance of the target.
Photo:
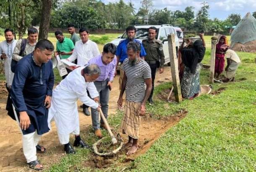
POLYGON ((181 81, 181 93, 185 99, 193 99, 201 93, 200 88, 200 70, 201 61, 204 58, 205 53, 205 42, 204 34, 199 34, 201 40, 196 40, 194 43, 189 42, 187 46, 193 44, 191 48, 183 48, 184 41, 181 48, 182 61, 185 65, 183 78, 181 81))

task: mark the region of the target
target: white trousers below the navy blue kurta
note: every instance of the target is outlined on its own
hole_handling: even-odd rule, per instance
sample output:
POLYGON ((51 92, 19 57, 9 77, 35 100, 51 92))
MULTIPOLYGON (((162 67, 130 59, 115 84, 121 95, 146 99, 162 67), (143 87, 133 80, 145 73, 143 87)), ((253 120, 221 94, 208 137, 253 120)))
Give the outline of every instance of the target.
POLYGON ((37 132, 22 135, 23 153, 27 162, 37 160, 37 144, 42 135, 38 135, 37 132))

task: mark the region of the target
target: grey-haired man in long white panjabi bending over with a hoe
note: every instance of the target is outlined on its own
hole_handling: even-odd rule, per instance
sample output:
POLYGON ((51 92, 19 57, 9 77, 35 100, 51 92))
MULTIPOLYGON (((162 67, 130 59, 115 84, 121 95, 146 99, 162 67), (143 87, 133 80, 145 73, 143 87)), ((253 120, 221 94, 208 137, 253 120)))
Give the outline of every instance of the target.
POLYGON ((76 101, 80 99, 84 104, 94 109, 99 108, 99 93, 94 86, 94 81, 99 77, 99 66, 91 64, 86 67, 78 67, 68 74, 52 92, 51 108, 48 114, 48 125, 52 118, 57 126, 57 133, 61 144, 67 154, 75 154, 75 150, 69 144, 69 135, 75 134, 74 147, 81 146, 89 149, 80 138, 79 116, 76 101), (89 91, 91 98, 87 95, 89 91))

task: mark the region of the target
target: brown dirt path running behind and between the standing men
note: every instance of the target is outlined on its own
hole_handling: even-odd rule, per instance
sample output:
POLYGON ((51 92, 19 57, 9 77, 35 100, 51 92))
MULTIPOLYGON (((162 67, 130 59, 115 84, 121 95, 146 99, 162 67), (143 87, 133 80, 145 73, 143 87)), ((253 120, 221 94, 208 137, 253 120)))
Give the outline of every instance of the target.
MULTIPOLYGON (((162 74, 157 73, 155 84, 170 81, 170 67, 165 66, 165 72, 162 74)), ((4 91, 3 82, 0 83, 0 171, 2 172, 22 172, 26 169, 26 159, 22 152, 21 132, 17 126, 16 121, 13 121, 5 111, 5 104, 7 99, 7 93, 4 91)), ((114 114, 117 110, 117 101, 119 96, 119 84, 118 76, 113 82, 113 89, 110 93, 109 101, 109 114, 114 114)), ((78 102, 80 106, 81 102, 78 102)), ((81 130, 88 128, 91 125, 91 116, 85 116, 79 109, 81 130)), ((159 125, 161 126, 161 125, 159 125)), ((161 130, 161 131, 166 131, 161 130)), ((143 136, 144 132, 141 132, 143 136)), ((157 138, 155 138, 157 139, 157 138)), ((154 139, 154 140, 155 140, 154 139)), ((152 140, 149 140, 152 142, 152 140)), ((56 127, 52 127, 52 131, 44 134, 40 144, 48 148, 47 152, 50 152, 49 161, 54 162, 55 157, 64 156, 63 147, 59 144, 57 138, 56 127), (56 153, 57 152, 57 153, 56 153)), ((144 144, 141 144, 144 145, 144 144)), ((146 145, 146 144, 145 144, 146 145)), ((148 147, 151 146, 151 144, 148 147)), ((139 151, 143 151, 140 149, 139 151)), ((142 152, 143 153, 143 152, 142 152)), ((38 155, 40 158, 42 155, 38 155)))

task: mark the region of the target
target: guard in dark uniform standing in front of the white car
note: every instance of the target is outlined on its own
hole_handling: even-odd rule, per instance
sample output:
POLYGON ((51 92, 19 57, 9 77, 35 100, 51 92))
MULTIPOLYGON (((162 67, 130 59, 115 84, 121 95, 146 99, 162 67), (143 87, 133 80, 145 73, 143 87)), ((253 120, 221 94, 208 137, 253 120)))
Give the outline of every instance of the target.
POLYGON ((163 45, 160 40, 156 40, 157 28, 149 28, 149 38, 142 41, 142 44, 146 50, 145 61, 151 68, 152 76, 152 91, 149 96, 149 104, 153 104, 152 96, 154 91, 154 80, 156 76, 157 68, 160 67, 159 73, 164 72, 165 55, 163 52, 163 45))

